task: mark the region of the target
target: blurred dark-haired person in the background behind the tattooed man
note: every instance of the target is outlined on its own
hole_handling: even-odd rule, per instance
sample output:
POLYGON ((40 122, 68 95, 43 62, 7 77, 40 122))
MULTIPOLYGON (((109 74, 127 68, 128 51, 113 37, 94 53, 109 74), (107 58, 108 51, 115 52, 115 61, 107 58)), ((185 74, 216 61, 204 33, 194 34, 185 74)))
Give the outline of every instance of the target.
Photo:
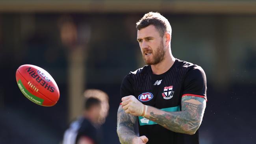
POLYGON ((108 115, 108 95, 97 89, 85 90, 82 116, 70 124, 64 133, 63 144, 100 144, 100 126, 108 115))

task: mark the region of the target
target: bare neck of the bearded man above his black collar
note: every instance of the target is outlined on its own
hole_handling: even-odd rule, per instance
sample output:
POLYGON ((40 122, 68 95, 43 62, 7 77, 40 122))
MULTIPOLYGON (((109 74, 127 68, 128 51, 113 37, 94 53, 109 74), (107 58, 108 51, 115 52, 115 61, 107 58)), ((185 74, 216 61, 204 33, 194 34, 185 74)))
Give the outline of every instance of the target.
POLYGON ((174 64, 175 58, 171 52, 167 52, 165 59, 156 65, 151 65, 153 74, 163 74, 169 70, 174 64))

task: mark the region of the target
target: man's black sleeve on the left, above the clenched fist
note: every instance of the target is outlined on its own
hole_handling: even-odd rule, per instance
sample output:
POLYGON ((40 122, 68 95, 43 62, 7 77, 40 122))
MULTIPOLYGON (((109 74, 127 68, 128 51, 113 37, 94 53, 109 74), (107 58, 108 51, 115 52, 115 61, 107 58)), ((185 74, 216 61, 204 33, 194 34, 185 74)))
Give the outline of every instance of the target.
POLYGON ((120 88, 121 98, 129 95, 134 95, 134 90, 132 89, 132 79, 130 74, 124 77, 124 79, 122 80, 121 88, 120 88))

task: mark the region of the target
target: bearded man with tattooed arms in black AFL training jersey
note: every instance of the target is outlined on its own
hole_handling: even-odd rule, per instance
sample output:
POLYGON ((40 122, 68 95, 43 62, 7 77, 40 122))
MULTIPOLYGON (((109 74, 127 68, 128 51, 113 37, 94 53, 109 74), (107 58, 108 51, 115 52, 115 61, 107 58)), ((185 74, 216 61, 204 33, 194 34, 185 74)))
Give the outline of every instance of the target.
POLYGON ((171 25, 160 13, 137 22, 137 41, 147 64, 121 85, 117 134, 122 144, 198 144, 206 107, 206 76, 171 53, 171 25), (139 122, 139 137, 134 133, 139 122))

